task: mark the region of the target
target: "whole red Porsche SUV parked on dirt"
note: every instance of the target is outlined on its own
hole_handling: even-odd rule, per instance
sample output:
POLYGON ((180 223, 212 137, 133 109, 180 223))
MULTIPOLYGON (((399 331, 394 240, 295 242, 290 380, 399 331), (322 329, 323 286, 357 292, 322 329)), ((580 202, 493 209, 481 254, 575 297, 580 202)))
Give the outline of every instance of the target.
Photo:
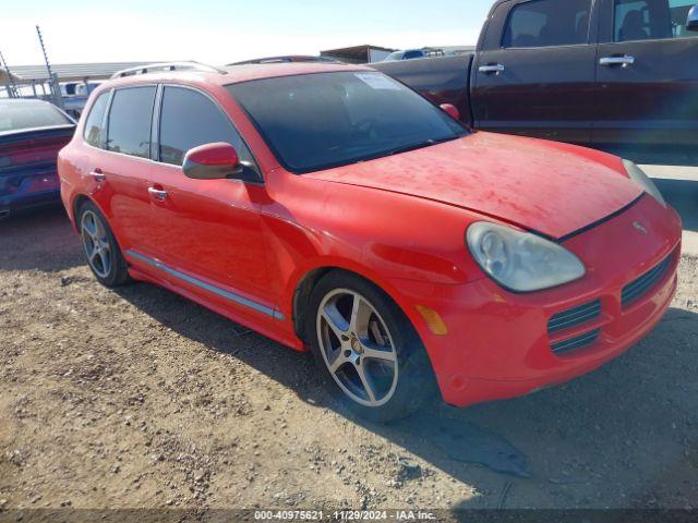
POLYGON ((629 161, 472 132, 362 66, 116 76, 59 159, 96 278, 310 349, 361 415, 588 373, 675 292, 679 218, 629 161))

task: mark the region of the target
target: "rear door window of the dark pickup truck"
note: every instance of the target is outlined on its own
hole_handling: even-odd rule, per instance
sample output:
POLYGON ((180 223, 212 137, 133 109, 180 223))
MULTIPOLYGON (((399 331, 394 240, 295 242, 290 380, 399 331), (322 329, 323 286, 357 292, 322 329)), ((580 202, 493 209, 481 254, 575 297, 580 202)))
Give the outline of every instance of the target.
POLYGON ((587 44, 591 0, 534 0, 516 5, 504 32, 504 47, 587 44))

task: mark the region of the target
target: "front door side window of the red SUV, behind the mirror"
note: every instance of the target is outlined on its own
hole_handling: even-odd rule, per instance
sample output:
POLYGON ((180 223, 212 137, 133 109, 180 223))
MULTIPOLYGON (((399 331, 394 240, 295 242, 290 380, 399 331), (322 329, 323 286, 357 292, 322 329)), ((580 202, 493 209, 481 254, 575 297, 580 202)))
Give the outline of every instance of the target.
POLYGON ((252 155, 228 117, 201 93, 182 87, 165 87, 160 115, 160 161, 181 166, 192 147, 226 142, 240 160, 253 161, 252 155))

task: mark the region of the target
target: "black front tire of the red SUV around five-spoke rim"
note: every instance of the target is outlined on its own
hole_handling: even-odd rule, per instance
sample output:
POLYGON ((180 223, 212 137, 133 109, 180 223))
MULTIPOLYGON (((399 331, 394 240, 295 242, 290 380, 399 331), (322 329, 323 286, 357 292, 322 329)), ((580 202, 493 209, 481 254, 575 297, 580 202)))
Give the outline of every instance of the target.
MULTIPOLYGON (((347 297, 347 300, 349 300, 349 297, 347 297)), ((339 305, 337 305, 337 307, 339 305)), ((346 316, 346 314, 342 316, 346 316)), ((347 332, 350 332, 351 328, 349 326, 347 327, 349 329, 347 332)), ((374 329, 376 328, 375 325, 372 325, 372 327, 374 329)), ((419 411, 428 401, 433 399, 437 392, 436 380, 426 350, 405 313, 402 313, 395 302, 380 288, 353 273, 337 270, 327 273, 317 282, 311 293, 309 311, 308 314, 305 314, 304 328, 324 385, 349 411, 363 418, 378 423, 388 423, 405 418, 419 411), (387 401, 380 405, 362 404, 359 402, 361 398, 356 400, 352 398, 351 391, 348 392, 345 390, 350 388, 347 386, 347 379, 351 378, 351 373, 357 372, 358 366, 354 363, 349 361, 342 364, 344 366, 340 368, 347 369, 342 370, 342 373, 346 374, 342 378, 329 370, 330 362, 326 363, 325 361, 325 358, 329 358, 329 356, 323 356, 323 351, 325 350, 323 349, 323 343, 325 345, 328 344, 330 339, 337 343, 339 338, 336 331, 333 331, 332 335, 327 333, 329 332, 327 329, 330 329, 329 326, 323 327, 323 325, 327 323, 326 319, 320 320, 321 323, 318 324, 318 312, 321 306, 325 306, 324 304, 328 303, 328 296, 329 300, 333 299, 333 295, 341 296, 345 290, 358 293, 369 302, 369 305, 377 313, 377 315, 373 315, 371 318, 377 318, 385 324, 384 326, 388 331, 386 338, 390 340, 388 344, 394 345, 392 349, 394 349, 397 360, 397 384, 393 385, 392 396, 388 397, 390 392, 386 392, 384 398, 386 398, 387 401), (327 338, 328 336, 330 336, 330 338, 327 338), (321 338, 325 341, 321 340, 321 338), (342 386, 340 386, 339 382, 342 382, 342 386)), ((342 336, 342 338, 347 337, 342 336)), ((345 342, 349 343, 349 340, 345 340, 345 342)), ((341 343, 341 341, 339 341, 339 343, 341 343)), ((359 345, 361 345, 361 343, 359 345)), ((342 351, 341 346, 347 345, 338 345, 335 351, 325 350, 325 352, 334 352, 335 354, 349 352, 342 351)), ((359 365, 361 364, 361 355, 363 354, 354 354, 359 361, 359 365)), ((383 366, 384 363, 385 362, 381 362, 381 366, 383 366)), ((388 368, 394 365, 393 362, 388 363, 388 368)), ((365 365, 365 358, 363 364, 365 365)), ((361 378, 358 379, 360 380, 361 378)), ((358 396, 358 393, 354 396, 358 396)), ((377 399, 378 394, 375 394, 375 397, 377 399)), ((364 398, 364 400, 368 400, 368 398, 364 398)))

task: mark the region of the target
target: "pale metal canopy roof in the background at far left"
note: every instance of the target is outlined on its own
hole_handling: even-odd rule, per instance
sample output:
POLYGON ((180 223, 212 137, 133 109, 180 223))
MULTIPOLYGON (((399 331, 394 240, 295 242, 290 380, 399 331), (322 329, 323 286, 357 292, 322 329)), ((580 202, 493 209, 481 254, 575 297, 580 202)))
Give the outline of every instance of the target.
MULTIPOLYGON (((60 82, 83 82, 89 80, 107 80, 117 71, 137 68, 153 63, 148 62, 107 62, 107 63, 63 63, 51 64, 51 71, 60 82)), ((17 85, 48 82, 48 72, 45 64, 40 65, 11 65, 12 80, 17 85)), ((0 84, 10 81, 7 70, 0 68, 0 84)))

